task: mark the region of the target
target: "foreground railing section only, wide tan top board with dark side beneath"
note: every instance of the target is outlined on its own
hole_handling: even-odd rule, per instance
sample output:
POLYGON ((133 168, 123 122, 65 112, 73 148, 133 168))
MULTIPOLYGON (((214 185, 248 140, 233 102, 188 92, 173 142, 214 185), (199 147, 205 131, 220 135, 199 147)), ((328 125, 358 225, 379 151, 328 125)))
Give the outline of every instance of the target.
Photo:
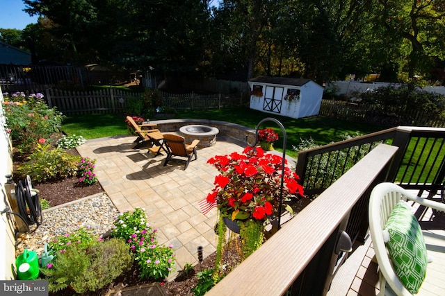
POLYGON ((397 150, 387 144, 371 150, 207 295, 325 295, 342 254, 339 233, 355 204, 385 180, 397 150))

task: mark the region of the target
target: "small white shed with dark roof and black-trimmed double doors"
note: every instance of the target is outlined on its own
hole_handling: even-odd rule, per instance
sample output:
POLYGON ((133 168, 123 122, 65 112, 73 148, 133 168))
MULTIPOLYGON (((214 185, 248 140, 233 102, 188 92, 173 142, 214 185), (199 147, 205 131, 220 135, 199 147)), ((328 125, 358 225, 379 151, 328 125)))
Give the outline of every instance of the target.
POLYGON ((310 79, 259 76, 248 83, 250 109, 295 119, 320 111, 324 88, 310 79))

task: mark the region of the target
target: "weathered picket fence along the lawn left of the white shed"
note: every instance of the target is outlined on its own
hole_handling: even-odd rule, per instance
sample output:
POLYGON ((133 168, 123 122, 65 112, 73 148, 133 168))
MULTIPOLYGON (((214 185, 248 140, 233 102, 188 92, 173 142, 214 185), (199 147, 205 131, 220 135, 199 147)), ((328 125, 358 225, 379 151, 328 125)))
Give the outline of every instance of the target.
MULTIPOLYGON (((224 94, 168 94, 163 96, 162 107, 175 110, 202 110, 230 107, 242 103, 242 96, 224 94)), ((58 89, 46 89, 45 98, 49 107, 57 107, 64 114, 123 113, 128 98, 142 94, 124 92, 120 89, 101 89, 90 92, 71 92, 58 89)))

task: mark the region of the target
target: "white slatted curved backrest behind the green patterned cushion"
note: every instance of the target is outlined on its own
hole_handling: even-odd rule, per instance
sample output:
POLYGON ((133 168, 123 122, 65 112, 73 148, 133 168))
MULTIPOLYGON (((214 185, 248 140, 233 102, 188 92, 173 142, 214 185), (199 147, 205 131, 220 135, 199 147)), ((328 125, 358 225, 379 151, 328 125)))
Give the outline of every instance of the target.
POLYGON ((410 195, 410 193, 396 184, 381 183, 374 187, 369 200, 369 230, 375 257, 382 273, 382 277, 380 277, 380 291, 385 290, 386 283, 393 290, 385 292, 385 295, 391 295, 391 293, 396 293, 395 295, 412 295, 398 279, 396 272, 394 272, 383 239, 383 229, 392 209, 399 200, 406 201, 407 195, 410 195))

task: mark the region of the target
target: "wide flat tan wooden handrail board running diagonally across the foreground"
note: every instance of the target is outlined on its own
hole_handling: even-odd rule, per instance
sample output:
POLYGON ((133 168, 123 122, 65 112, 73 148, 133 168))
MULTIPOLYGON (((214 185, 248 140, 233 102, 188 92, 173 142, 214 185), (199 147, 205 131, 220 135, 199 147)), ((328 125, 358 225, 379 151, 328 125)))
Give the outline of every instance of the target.
MULTIPOLYGON (((397 150, 386 144, 374 148, 206 295, 286 293, 364 192, 382 177, 397 150)), ((328 286, 320 281, 318 285, 328 286)))

